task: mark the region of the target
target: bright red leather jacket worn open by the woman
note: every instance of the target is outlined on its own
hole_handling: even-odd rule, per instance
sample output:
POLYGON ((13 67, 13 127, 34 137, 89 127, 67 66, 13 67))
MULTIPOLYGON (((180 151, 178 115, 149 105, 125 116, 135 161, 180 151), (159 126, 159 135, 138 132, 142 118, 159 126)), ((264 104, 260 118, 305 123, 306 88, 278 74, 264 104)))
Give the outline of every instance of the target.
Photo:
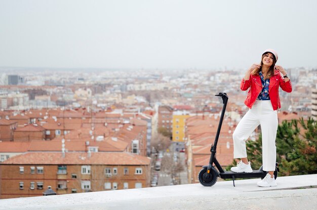
MULTIPOLYGON (((286 92, 292 92, 291 80, 285 82, 283 74, 279 70, 275 70, 274 75, 270 78, 270 84, 268 86, 268 94, 272 103, 273 110, 278 110, 281 108, 281 101, 279 96, 279 86, 282 90, 286 92)), ((250 75, 249 80, 241 81, 241 90, 245 91, 249 89, 247 98, 245 99, 245 104, 250 109, 252 108, 255 100, 259 96, 262 90, 261 78, 259 75, 250 75), (249 89, 249 87, 251 87, 249 89)))

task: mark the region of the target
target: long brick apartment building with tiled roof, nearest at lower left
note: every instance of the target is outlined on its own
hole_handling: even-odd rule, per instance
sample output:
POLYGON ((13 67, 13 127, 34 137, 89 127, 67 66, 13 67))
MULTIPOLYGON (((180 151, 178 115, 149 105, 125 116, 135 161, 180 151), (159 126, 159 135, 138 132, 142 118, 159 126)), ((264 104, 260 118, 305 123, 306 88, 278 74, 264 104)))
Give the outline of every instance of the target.
POLYGON ((28 152, 0 163, 0 198, 150 186, 150 158, 127 152, 28 152))

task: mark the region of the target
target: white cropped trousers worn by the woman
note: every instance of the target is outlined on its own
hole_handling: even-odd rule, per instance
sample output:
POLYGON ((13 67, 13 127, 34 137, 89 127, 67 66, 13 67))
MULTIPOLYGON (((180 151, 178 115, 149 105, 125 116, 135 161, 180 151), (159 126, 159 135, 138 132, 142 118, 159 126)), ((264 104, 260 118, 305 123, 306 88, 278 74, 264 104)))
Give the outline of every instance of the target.
POLYGON ((246 115, 236 126, 233 137, 234 158, 247 158, 246 141, 251 133, 261 125, 263 171, 275 171, 278 130, 278 112, 273 111, 270 100, 256 100, 246 115))

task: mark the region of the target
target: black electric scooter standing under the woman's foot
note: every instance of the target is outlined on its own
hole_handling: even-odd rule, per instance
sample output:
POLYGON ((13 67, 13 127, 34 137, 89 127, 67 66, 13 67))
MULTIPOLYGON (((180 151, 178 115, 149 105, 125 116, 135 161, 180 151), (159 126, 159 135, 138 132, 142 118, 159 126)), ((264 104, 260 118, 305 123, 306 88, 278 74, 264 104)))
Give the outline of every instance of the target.
MULTIPOLYGON (((211 155, 210 155, 209 165, 203 166, 203 169, 199 172, 199 175, 198 175, 200 183, 203 186, 210 187, 210 186, 213 186, 217 182, 217 178, 220 177, 222 179, 232 179, 233 186, 235 187, 235 185, 234 185, 235 178, 260 177, 261 179, 263 179, 266 176, 266 174, 268 173, 266 171, 263 171, 263 169, 262 169, 263 166, 261 166, 259 170, 253 170, 252 173, 235 173, 235 172, 231 172, 231 171, 229 171, 229 172, 224 171, 222 169, 221 165, 219 164, 219 162, 217 161, 217 159, 216 159, 217 143, 218 143, 218 138, 219 138, 219 134, 220 134, 221 126, 222 126, 224 113, 225 113, 226 107, 227 107, 228 96, 224 92, 220 92, 216 96, 220 96, 222 98, 223 108, 222 108, 222 112, 221 112, 221 116, 220 116, 220 121, 219 121, 219 125, 218 125, 218 130, 216 133, 215 142, 214 142, 214 144, 211 145, 211 148, 210 148, 211 155), (215 167, 218 169, 218 171, 215 169, 215 167)), ((279 164, 276 163, 275 171, 274 171, 274 179, 276 179, 278 177, 278 172, 280 172, 279 164)))

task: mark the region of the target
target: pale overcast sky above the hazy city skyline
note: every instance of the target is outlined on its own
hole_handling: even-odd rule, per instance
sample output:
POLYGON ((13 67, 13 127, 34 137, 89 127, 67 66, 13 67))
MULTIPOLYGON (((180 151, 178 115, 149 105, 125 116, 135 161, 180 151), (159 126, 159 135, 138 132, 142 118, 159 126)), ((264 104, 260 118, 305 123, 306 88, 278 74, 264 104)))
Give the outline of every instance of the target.
POLYGON ((316 2, 0 0, 0 66, 317 67, 316 2))

